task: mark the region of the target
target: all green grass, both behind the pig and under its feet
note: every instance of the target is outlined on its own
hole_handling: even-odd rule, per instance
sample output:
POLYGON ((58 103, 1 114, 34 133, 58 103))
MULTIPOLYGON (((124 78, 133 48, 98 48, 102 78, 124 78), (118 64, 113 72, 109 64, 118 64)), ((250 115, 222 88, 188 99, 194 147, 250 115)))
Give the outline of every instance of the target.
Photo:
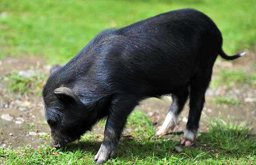
MULTIPOLYGON (((78 53, 97 33, 109 27, 122 27, 159 13, 193 7, 208 16, 223 33, 223 49, 232 55, 242 49, 256 50, 256 3, 254 0, 1 0, 0 2, 0 59, 4 56, 26 58, 38 56, 50 64, 65 63, 78 53)), ((0 77, 4 79, 4 77, 0 77)), ((9 90, 22 95, 37 94, 45 80, 36 72, 32 77, 20 77, 13 72, 9 90)), ((256 87, 256 75, 236 70, 223 70, 212 84, 249 84, 256 87)), ((218 103, 238 105, 239 101, 226 97, 218 103)), ((104 128, 105 121, 96 127, 104 128)), ((30 125, 33 130, 34 125, 30 125)), ((180 146, 177 134, 154 136, 152 121, 144 112, 131 114, 127 129, 116 150, 116 157, 106 164, 138 165, 221 165, 255 163, 256 137, 249 127, 215 120, 209 132, 198 134, 191 147, 180 146), (182 147, 182 152, 175 150, 182 147)), ((41 136, 50 143, 50 136, 41 136)), ((37 149, 29 147, 0 148, 0 164, 91 164, 103 139, 96 132, 56 150, 49 145, 37 149)))

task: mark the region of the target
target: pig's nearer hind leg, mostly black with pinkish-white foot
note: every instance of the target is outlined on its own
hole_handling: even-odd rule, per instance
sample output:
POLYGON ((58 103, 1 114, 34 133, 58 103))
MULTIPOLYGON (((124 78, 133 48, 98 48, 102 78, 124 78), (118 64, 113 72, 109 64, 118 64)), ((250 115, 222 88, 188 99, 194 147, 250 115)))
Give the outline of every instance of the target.
POLYGON ((211 81, 212 69, 200 69, 190 83, 189 116, 181 144, 191 145, 197 136, 201 112, 205 102, 205 92, 211 81))

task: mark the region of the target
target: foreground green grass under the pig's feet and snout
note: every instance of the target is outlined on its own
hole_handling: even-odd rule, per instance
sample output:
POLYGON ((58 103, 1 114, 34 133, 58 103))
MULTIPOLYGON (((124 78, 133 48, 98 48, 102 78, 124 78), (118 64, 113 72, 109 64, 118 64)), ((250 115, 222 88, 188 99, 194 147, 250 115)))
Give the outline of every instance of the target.
MULTIPOLYGON (((256 136, 249 136, 250 129, 246 125, 227 124, 222 120, 211 121, 209 132, 200 133, 191 147, 180 146, 180 136, 176 134, 152 136, 155 131, 152 121, 139 110, 131 114, 127 128, 132 131, 129 135, 124 132, 115 158, 105 164, 247 165, 253 164, 256 159, 256 136), (176 146, 182 147, 182 152, 177 152, 176 146)), ((49 141, 49 138, 46 139, 49 141)), ((101 141, 102 136, 90 132, 83 135, 79 141, 58 150, 48 145, 37 149, 0 148, 0 162, 5 165, 91 164, 101 141)))

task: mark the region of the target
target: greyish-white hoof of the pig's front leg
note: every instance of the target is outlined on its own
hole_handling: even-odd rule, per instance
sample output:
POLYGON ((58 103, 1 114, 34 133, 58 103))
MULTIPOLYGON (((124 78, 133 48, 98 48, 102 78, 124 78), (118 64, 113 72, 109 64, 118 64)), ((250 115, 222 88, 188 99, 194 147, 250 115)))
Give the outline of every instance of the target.
POLYGON ((101 144, 98 153, 95 155, 93 161, 96 161, 97 164, 105 163, 109 158, 114 156, 114 151, 106 147, 104 144, 101 144))

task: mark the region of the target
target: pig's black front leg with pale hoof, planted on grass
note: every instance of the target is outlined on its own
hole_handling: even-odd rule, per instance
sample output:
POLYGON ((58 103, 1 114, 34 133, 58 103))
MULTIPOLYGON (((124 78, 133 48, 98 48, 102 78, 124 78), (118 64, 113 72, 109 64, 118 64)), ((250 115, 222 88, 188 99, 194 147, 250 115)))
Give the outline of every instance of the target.
POLYGON ((114 156, 115 148, 121 137, 126 119, 135 105, 135 101, 127 98, 124 101, 119 99, 112 101, 105 126, 104 139, 94 158, 97 164, 104 163, 114 156))

